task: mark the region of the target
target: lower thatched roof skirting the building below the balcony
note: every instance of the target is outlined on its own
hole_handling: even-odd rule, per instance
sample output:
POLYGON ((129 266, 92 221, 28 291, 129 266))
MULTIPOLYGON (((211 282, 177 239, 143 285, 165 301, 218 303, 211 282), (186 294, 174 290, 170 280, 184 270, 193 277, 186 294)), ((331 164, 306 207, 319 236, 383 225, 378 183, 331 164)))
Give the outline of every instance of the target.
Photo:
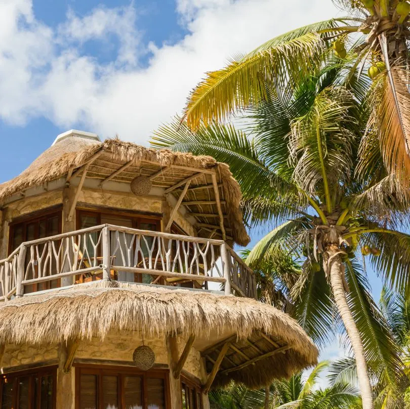
MULTIPOLYGON (((93 337, 103 340, 110 331, 121 330, 141 331, 147 338, 195 335, 202 344, 203 340, 217 339, 218 334, 236 335, 237 345, 240 340, 255 341, 261 332, 289 346, 283 353, 258 360, 256 365, 224 373, 224 367, 229 369, 232 362, 241 362, 240 355, 231 355, 229 363, 222 362, 214 386, 235 380, 261 387, 273 378, 289 377, 315 364, 318 355, 294 319, 248 298, 111 281, 24 296, 0 306, 0 344, 60 343, 93 337)), ((250 351, 259 349, 264 354, 274 349, 270 343, 255 346, 250 351)))

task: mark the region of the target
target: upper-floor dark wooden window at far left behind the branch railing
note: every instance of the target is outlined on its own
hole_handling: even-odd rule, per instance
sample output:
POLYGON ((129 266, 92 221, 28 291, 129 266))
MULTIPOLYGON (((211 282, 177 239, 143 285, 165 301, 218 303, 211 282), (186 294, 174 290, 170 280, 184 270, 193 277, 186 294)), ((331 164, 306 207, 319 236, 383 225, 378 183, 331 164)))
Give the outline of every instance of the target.
MULTIPOLYGON (((38 238, 50 237, 61 233, 61 211, 43 213, 43 215, 27 216, 22 221, 13 222, 10 224, 9 236, 9 254, 15 250, 23 241, 36 240, 38 238)), ((39 254, 42 254, 45 244, 38 246, 39 254)), ((26 266, 30 261, 30 253, 26 254, 26 266)), ((51 259, 52 263, 55 260, 51 259)), ((53 264, 51 268, 55 267, 53 264)), ((35 264, 33 271, 28 269, 27 279, 36 278, 37 264, 35 264), (33 277, 34 273, 34 277, 33 277)), ((24 293, 32 293, 35 291, 47 290, 50 288, 60 287, 60 280, 47 281, 44 283, 25 285, 24 293)))

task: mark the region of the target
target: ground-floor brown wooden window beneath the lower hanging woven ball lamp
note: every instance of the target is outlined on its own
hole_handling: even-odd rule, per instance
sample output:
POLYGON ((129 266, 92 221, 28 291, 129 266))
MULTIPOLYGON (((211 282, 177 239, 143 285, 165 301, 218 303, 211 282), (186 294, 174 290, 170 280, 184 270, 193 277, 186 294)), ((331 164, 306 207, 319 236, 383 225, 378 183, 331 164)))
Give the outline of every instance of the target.
MULTIPOLYGON (((169 371, 77 367, 76 409, 168 409, 169 371)), ((3 409, 3 408, 2 408, 3 409)))

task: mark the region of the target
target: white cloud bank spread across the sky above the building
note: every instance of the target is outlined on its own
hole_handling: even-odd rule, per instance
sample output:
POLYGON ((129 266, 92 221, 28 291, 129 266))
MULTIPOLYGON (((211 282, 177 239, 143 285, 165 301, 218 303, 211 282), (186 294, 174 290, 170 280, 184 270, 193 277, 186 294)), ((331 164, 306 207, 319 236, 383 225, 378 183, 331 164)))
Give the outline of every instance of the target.
POLYGON ((0 117, 24 124, 46 116, 67 129, 81 126, 103 137, 118 133, 146 144, 152 130, 182 110, 203 72, 337 10, 331 0, 178 0, 176 12, 188 34, 156 47, 142 43, 132 4, 99 7, 85 17, 69 11, 53 29, 35 19, 30 0, 3 0, 0 117), (111 36, 119 44, 113 61, 85 54, 86 42, 109 47, 111 36), (138 58, 147 50, 148 63, 141 67, 138 58))

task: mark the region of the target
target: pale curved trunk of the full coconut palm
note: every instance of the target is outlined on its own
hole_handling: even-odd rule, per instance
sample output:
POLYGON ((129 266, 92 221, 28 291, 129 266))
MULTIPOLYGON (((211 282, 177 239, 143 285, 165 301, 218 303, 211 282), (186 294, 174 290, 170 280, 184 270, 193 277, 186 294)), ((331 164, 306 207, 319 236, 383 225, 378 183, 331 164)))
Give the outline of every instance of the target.
POLYGON ((374 409, 372 385, 367 373, 367 363, 364 357, 363 343, 347 303, 346 293, 343 288, 342 274, 344 274, 344 265, 340 254, 337 254, 339 251, 338 246, 335 244, 327 246, 324 253, 324 262, 330 264, 328 268, 330 268, 330 279, 335 303, 343 324, 345 325, 356 359, 357 377, 359 380, 363 409, 374 409))

